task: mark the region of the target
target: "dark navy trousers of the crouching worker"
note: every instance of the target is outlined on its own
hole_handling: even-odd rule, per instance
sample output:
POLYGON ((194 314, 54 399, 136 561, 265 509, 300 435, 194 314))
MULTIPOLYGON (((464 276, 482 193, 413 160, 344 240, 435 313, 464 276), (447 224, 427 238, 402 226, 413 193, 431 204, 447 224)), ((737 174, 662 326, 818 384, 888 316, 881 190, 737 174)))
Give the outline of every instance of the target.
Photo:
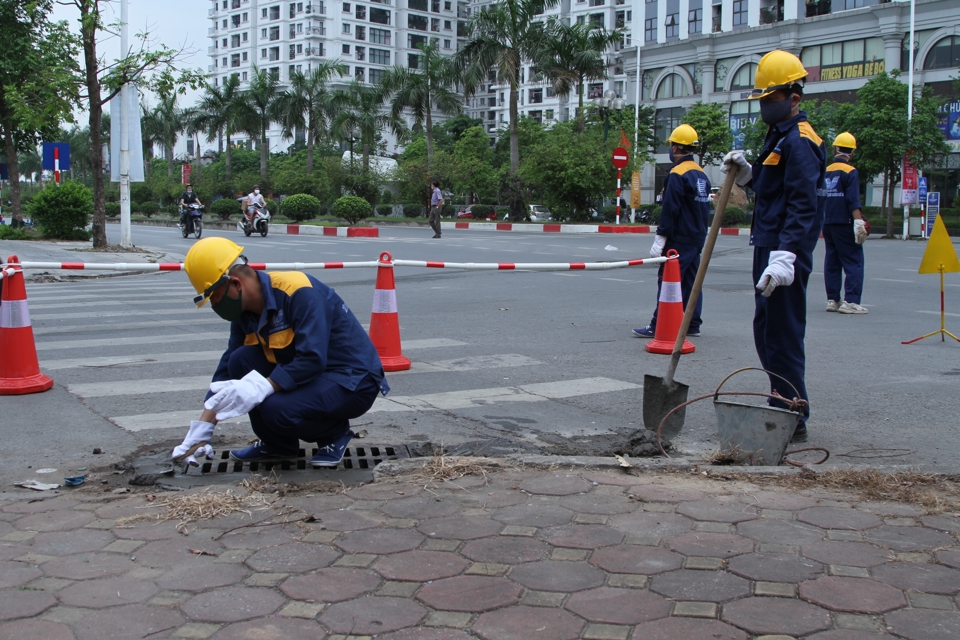
MULTIPOLYGON (((238 380, 253 370, 269 377, 275 364, 260 346, 240 347, 230 354, 228 371, 238 380)), ((316 377, 290 391, 280 390, 250 411, 253 432, 270 451, 295 453, 304 442, 325 447, 336 442, 373 406, 379 387, 373 376, 364 378, 355 391, 316 377)))

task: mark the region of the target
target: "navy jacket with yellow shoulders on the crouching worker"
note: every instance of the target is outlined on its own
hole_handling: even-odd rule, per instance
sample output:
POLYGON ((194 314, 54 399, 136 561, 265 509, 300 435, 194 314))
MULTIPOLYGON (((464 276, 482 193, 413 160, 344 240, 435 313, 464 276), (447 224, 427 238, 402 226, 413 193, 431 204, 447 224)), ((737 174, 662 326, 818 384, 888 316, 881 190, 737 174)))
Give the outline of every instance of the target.
POLYGON ((277 364, 270 379, 284 390, 320 376, 353 391, 369 373, 381 393, 390 391, 370 337, 333 289, 295 271, 258 271, 257 276, 263 313, 257 317, 244 312, 230 323, 230 342, 213 374, 214 382, 230 379, 231 353, 259 344, 267 360, 277 364))

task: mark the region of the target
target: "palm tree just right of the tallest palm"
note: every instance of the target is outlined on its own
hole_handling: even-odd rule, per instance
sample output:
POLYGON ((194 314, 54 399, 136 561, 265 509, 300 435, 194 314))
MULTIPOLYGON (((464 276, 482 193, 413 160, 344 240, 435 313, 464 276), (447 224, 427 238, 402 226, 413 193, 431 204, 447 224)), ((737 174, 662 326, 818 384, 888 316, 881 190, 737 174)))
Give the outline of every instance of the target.
POLYGON ((587 22, 563 24, 551 19, 547 30, 551 37, 537 57, 537 70, 542 73, 559 96, 577 91, 577 120, 583 133, 583 87, 588 80, 603 80, 607 67, 603 53, 623 38, 623 32, 607 31, 587 22))

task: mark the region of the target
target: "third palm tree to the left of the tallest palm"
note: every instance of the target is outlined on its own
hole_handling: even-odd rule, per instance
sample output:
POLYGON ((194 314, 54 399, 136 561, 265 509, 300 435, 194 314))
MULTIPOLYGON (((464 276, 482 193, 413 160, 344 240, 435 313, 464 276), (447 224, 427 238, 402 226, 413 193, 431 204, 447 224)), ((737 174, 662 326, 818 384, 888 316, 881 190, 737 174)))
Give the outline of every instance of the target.
POLYGON ((283 114, 285 136, 295 129, 307 130, 307 173, 313 172, 313 149, 329 130, 336 113, 332 108, 335 93, 327 88, 334 76, 345 76, 349 67, 339 59, 326 60, 308 73, 297 71, 290 78, 290 91, 279 110, 283 114))

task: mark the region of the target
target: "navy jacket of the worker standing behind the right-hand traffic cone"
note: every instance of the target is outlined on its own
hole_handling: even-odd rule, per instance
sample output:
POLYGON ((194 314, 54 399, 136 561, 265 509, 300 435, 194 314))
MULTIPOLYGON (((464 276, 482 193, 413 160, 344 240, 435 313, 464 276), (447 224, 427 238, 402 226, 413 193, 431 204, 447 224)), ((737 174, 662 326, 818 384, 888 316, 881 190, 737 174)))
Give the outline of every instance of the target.
POLYGON ((710 180, 690 156, 670 168, 663 185, 657 235, 671 242, 703 248, 710 219, 710 180))

